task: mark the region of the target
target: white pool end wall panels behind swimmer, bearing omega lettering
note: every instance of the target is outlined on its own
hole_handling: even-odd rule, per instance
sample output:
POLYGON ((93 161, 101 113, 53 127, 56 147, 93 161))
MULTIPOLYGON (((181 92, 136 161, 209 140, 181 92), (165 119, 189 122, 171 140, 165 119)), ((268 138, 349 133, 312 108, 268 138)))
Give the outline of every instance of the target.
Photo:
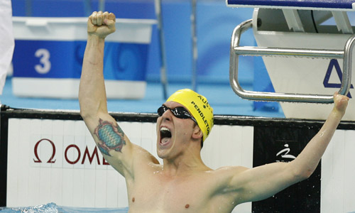
MULTIPOLYGON (((158 158, 155 123, 119 124, 133 143, 158 158)), ((337 130, 322 158, 322 213, 355 210, 354 138, 355 131, 337 130)), ((70 207, 127 207, 124 178, 104 165, 101 153, 95 155, 94 151, 83 121, 9 119, 7 207, 48 202, 70 207), (50 160, 53 147, 55 155, 50 160)), ((251 168, 253 126, 215 125, 202 148, 202 159, 211 168, 251 168)), ((239 205, 236 212, 250 213, 251 203, 239 205)))

